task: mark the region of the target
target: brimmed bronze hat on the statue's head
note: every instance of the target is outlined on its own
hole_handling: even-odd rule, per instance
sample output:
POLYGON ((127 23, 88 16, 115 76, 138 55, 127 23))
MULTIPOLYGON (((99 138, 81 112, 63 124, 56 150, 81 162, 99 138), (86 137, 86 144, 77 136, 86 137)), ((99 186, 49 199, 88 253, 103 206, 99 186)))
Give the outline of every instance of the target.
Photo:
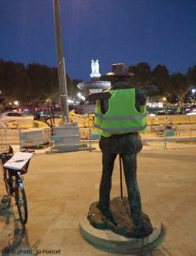
POLYGON ((129 72, 129 67, 125 63, 112 64, 112 72, 106 73, 105 76, 131 77, 134 73, 129 72))

